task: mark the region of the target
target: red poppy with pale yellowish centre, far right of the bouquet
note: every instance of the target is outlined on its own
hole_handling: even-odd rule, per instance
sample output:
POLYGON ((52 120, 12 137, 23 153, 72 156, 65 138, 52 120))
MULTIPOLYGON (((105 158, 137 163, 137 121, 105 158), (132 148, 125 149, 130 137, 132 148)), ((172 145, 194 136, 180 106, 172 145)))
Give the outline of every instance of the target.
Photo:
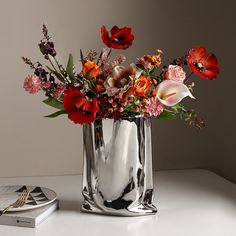
POLYGON ((218 61, 214 54, 207 53, 204 47, 196 47, 189 52, 188 65, 200 77, 212 80, 219 74, 218 61))

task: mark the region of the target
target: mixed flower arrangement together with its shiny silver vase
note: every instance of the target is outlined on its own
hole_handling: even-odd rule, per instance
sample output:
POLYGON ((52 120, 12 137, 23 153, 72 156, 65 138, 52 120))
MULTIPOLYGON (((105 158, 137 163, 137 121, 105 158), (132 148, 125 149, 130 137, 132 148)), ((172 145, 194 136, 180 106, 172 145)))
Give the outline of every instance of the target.
POLYGON ((48 62, 32 62, 24 81, 27 92, 43 91, 43 102, 57 109, 46 117, 67 114, 83 124, 83 211, 113 215, 153 214, 150 117, 181 118, 201 128, 204 122, 180 102, 193 96, 193 74, 206 80, 217 77, 214 54, 193 48, 168 66, 161 66, 163 52, 143 55, 124 66, 126 57, 111 57, 113 49, 129 48, 134 40, 130 27, 101 28, 106 45, 99 54, 80 50, 81 70, 75 71, 70 54, 64 67, 43 25, 39 49, 48 62), (189 74, 187 75, 187 70, 189 74), (106 119, 109 118, 109 119, 106 119))

